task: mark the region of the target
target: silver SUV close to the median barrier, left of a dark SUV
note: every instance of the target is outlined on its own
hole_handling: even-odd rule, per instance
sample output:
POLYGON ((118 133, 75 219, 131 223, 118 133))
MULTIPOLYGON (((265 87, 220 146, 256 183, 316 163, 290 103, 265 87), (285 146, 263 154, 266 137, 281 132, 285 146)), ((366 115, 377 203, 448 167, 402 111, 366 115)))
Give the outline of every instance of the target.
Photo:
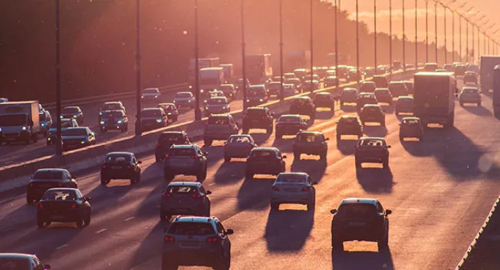
POLYGON ((227 140, 229 136, 240 133, 238 123, 233 115, 210 115, 206 121, 203 142, 206 146, 212 145, 214 140, 227 140))

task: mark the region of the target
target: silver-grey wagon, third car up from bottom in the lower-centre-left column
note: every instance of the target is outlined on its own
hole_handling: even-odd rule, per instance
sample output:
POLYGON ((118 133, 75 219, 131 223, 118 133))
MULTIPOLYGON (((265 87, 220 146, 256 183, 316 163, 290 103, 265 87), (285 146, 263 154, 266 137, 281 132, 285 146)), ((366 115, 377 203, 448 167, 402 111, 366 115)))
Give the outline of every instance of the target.
POLYGON ((206 179, 208 152, 202 152, 196 144, 172 145, 165 156, 163 177, 172 181, 175 176, 196 176, 197 181, 206 179))

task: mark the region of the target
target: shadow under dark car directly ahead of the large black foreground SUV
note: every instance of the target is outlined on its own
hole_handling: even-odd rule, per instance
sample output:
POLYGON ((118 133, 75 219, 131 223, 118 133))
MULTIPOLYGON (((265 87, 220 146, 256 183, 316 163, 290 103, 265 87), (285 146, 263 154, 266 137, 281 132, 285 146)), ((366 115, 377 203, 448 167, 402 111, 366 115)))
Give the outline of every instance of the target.
POLYGON ((392 192, 394 176, 392 176, 390 168, 357 168, 356 178, 358 178, 361 187, 368 193, 383 194, 392 192))

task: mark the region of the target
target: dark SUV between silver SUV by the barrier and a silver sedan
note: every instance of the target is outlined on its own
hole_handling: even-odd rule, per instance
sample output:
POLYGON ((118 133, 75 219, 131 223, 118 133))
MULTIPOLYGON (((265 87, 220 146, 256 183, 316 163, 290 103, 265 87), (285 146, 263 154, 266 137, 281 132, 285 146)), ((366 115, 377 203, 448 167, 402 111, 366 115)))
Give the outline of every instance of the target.
POLYGON ((263 128, 272 134, 274 126, 274 112, 267 107, 250 107, 243 115, 243 133, 248 134, 251 128, 263 128))

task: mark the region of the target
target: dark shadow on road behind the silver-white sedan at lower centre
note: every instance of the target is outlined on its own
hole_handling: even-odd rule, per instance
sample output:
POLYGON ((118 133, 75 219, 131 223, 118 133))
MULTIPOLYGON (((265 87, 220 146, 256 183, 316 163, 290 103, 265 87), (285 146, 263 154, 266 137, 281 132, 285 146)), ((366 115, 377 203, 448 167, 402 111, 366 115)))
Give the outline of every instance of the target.
MULTIPOLYGON (((280 208, 283 209, 283 206, 280 208)), ((314 210, 271 210, 264 235, 267 250, 300 251, 313 229, 314 213, 314 210)))

